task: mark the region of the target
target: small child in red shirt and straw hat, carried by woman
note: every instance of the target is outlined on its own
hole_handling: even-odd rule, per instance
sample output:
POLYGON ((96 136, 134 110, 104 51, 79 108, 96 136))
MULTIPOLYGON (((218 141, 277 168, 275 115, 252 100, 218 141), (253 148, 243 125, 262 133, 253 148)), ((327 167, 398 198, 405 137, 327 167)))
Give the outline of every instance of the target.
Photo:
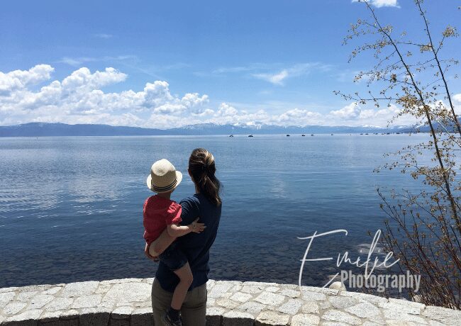
POLYGON ((193 281, 187 257, 177 248, 174 240, 189 232, 200 233, 205 228, 203 223, 196 222, 198 218, 187 226, 179 225, 181 206, 172 201, 170 196, 181 180, 181 172, 176 171, 167 159, 160 159, 152 164, 147 184, 149 189, 157 195, 146 199, 143 207, 144 239, 149 254, 152 257, 158 257, 160 262, 167 265, 179 277, 179 283, 174 288, 170 309, 163 317, 167 325, 173 326, 182 325, 179 310, 181 310, 187 290, 193 281), (162 242, 162 244, 157 242, 162 242), (158 249, 163 247, 167 247, 163 252, 162 249, 158 249))

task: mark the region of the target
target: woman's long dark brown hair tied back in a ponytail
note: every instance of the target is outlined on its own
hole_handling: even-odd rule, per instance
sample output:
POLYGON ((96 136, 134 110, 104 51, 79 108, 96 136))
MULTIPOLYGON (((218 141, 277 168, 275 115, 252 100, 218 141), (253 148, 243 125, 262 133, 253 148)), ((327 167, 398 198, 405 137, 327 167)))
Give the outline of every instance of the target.
POLYGON ((211 203, 216 206, 221 205, 219 191, 221 182, 214 175, 216 165, 214 164, 213 155, 204 148, 196 148, 189 157, 189 173, 194 183, 211 203))

